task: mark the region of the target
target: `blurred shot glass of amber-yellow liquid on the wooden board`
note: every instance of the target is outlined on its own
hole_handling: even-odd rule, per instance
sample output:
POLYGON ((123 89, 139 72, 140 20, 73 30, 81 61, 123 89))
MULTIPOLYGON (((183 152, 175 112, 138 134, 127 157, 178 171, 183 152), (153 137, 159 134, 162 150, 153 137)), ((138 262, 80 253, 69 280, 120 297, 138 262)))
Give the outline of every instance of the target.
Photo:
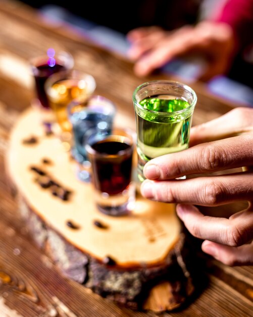
POLYGON ((46 80, 45 92, 56 117, 54 131, 63 142, 70 141, 72 134, 67 106, 73 100, 78 103, 85 102, 95 88, 94 77, 77 69, 55 73, 46 80))

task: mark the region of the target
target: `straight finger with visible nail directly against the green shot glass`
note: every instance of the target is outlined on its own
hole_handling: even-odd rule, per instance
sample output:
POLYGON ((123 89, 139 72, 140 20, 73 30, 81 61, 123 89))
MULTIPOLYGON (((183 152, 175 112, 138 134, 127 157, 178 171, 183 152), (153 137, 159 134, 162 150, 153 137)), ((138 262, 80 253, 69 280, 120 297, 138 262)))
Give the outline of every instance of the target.
POLYGON ((168 180, 184 175, 210 173, 250 166, 253 133, 198 144, 186 150, 165 154, 144 166, 147 179, 168 180))

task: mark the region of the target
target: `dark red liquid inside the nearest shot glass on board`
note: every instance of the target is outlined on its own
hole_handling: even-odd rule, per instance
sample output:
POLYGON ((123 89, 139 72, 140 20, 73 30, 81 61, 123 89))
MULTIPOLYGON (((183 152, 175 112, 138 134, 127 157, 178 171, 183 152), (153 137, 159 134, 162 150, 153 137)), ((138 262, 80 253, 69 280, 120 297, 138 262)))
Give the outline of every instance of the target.
POLYGON ((103 157, 95 157, 93 166, 93 178, 95 188, 115 195, 125 190, 131 181, 132 154, 130 145, 119 141, 100 141, 92 145, 99 153, 112 154, 106 160, 103 157), (117 155, 126 150, 124 155, 117 155))

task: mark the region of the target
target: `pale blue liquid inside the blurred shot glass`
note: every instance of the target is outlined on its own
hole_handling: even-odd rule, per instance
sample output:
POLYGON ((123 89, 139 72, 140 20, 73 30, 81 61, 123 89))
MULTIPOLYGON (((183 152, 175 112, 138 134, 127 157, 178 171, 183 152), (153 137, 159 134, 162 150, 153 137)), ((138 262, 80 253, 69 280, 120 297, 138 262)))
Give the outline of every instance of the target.
POLYGON ((113 125, 112 114, 96 112, 93 109, 73 113, 72 118, 75 159, 83 163, 88 161, 85 151, 85 140, 90 133, 111 133, 113 125))

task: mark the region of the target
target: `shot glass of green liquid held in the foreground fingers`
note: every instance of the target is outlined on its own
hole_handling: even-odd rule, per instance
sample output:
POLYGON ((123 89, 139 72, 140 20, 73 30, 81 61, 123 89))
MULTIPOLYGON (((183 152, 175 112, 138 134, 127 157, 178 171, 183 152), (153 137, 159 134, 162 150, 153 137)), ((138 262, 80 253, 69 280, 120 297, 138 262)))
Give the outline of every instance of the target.
POLYGON ((143 167, 149 160, 188 148, 197 96, 183 83, 155 80, 138 86, 132 99, 137 132, 137 181, 140 184, 145 179, 143 167))

